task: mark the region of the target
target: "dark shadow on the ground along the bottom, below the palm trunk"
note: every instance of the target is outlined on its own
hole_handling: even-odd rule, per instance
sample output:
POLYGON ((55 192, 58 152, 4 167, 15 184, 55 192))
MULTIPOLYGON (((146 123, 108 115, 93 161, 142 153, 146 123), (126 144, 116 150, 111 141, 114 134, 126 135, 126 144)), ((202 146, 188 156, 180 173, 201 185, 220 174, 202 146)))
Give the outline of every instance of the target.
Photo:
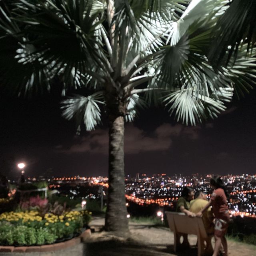
POLYGON ((84 245, 83 256, 196 256, 197 248, 174 253, 173 245, 142 244, 134 240, 91 241, 84 245))

